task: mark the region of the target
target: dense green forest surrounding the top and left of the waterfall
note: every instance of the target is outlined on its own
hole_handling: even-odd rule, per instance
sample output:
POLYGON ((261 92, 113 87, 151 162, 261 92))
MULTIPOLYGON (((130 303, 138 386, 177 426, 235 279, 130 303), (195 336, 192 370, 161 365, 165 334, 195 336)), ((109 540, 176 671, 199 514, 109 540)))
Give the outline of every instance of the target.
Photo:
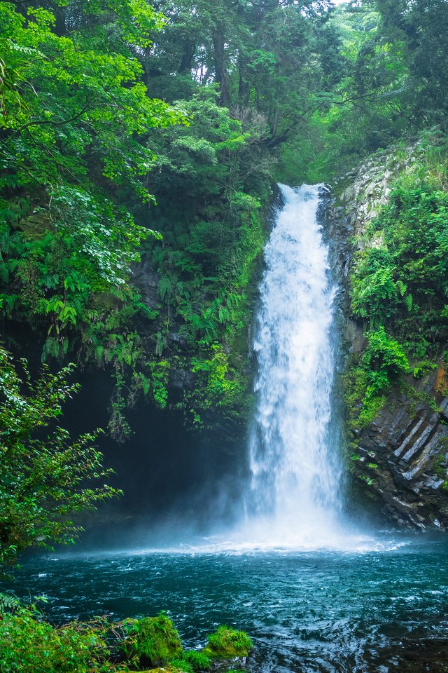
MULTIPOLYGON (((118 439, 138 395, 189 425, 245 422, 275 182, 332 184, 431 130, 443 266, 446 1, 20 0, 1 2, 0 26, 4 339, 28 355, 26 326, 44 362, 106 367, 118 439)), ((418 270, 379 257, 353 293, 366 327, 391 318, 391 292, 413 320, 419 299, 444 310, 446 280, 409 299, 418 270)))

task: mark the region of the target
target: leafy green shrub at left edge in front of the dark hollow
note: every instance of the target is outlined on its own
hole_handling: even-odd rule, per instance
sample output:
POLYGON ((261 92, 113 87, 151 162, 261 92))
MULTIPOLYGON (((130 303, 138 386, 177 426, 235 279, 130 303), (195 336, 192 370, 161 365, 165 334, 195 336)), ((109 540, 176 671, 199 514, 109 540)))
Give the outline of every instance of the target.
POLYGON ((25 360, 22 367, 23 379, 0 347, 0 573, 27 548, 73 542, 82 528, 72 515, 121 492, 92 487, 111 473, 94 447, 99 430, 72 441, 55 426, 62 403, 79 389, 66 381, 73 365, 57 374, 43 367, 35 383, 25 360))

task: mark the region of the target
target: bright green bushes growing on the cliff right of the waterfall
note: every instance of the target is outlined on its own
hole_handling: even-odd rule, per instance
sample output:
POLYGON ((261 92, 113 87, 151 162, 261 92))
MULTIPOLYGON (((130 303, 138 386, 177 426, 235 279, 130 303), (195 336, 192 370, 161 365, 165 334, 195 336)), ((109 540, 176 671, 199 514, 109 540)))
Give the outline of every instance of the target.
POLYGON ((345 377, 353 429, 372 422, 402 374, 417 379, 430 372, 448 338, 443 152, 435 153, 434 166, 426 148, 410 173, 400 176, 353 258, 351 311, 367 328, 367 348, 345 377))

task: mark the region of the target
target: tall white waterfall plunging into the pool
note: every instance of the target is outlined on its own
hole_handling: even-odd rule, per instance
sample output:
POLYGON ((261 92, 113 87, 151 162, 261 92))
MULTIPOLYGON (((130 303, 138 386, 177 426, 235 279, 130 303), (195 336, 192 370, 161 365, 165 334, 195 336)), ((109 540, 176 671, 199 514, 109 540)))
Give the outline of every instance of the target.
POLYGON ((326 545, 340 530, 336 288, 317 221, 321 186, 280 189, 254 344, 247 529, 274 545, 326 545))

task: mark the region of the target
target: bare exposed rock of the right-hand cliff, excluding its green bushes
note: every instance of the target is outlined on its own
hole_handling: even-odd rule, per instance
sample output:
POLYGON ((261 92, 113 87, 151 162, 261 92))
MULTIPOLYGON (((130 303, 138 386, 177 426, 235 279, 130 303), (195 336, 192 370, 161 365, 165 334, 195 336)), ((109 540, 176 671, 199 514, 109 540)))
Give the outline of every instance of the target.
MULTIPOLYGON (((332 266, 342 279, 346 370, 366 348, 366 323, 351 313, 356 250, 377 245, 365 234, 368 224, 396 179, 421 172, 425 152, 416 142, 377 154, 335 185, 325 227, 332 266)), ((448 371, 442 353, 418 380, 402 375, 368 423, 352 423, 352 413, 348 408, 346 458, 360 497, 377 503, 400 528, 448 530, 448 371)))

